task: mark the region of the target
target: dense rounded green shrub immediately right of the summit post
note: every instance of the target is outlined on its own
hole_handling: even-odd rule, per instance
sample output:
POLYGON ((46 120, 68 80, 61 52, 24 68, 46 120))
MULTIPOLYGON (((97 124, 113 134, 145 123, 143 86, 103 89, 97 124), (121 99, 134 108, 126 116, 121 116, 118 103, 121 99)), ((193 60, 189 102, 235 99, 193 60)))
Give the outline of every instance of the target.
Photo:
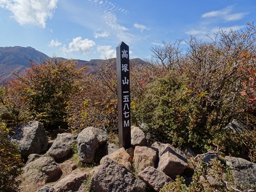
POLYGON ((199 101, 187 88, 184 76, 170 72, 148 86, 135 114, 152 139, 179 147, 201 147, 209 135, 202 118, 205 110, 199 101))

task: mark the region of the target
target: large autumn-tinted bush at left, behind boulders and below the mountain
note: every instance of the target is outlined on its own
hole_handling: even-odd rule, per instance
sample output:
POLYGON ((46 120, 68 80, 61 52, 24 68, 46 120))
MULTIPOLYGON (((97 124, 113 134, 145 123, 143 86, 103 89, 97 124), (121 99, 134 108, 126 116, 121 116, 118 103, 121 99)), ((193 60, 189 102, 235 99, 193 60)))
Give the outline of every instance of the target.
POLYGON ((25 74, 16 73, 14 79, 4 84, 1 104, 5 113, 1 120, 14 123, 38 120, 46 128, 67 127, 67 102, 77 91, 75 82, 83 68, 75 69, 75 60, 58 58, 45 59, 39 64, 31 62, 30 66, 25 74))

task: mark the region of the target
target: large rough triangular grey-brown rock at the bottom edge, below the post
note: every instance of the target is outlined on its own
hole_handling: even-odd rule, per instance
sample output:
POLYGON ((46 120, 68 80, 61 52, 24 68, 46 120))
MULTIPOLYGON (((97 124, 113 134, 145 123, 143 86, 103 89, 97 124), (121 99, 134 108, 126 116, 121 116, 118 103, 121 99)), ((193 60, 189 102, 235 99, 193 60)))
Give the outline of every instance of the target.
POLYGON ((145 191, 144 183, 129 172, 123 165, 105 158, 91 179, 94 191, 139 192, 145 191))

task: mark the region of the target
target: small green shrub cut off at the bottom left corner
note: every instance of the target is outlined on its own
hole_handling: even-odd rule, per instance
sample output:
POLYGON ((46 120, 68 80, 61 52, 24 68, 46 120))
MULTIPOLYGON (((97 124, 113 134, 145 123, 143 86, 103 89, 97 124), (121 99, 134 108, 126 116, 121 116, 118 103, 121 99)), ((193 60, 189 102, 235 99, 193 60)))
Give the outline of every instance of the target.
POLYGON ((4 123, 0 124, 0 191, 14 191, 20 180, 23 160, 19 155, 16 144, 8 137, 9 130, 4 123))

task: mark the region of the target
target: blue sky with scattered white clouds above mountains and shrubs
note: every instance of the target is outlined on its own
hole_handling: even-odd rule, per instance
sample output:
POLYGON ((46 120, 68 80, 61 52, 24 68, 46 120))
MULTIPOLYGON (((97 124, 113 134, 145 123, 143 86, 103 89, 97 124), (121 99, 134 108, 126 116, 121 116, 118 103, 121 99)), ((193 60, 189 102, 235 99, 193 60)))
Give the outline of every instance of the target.
POLYGON ((255 20, 255 0, 0 0, 0 47, 90 60, 115 57, 124 41, 143 59, 162 40, 208 40, 255 20))

